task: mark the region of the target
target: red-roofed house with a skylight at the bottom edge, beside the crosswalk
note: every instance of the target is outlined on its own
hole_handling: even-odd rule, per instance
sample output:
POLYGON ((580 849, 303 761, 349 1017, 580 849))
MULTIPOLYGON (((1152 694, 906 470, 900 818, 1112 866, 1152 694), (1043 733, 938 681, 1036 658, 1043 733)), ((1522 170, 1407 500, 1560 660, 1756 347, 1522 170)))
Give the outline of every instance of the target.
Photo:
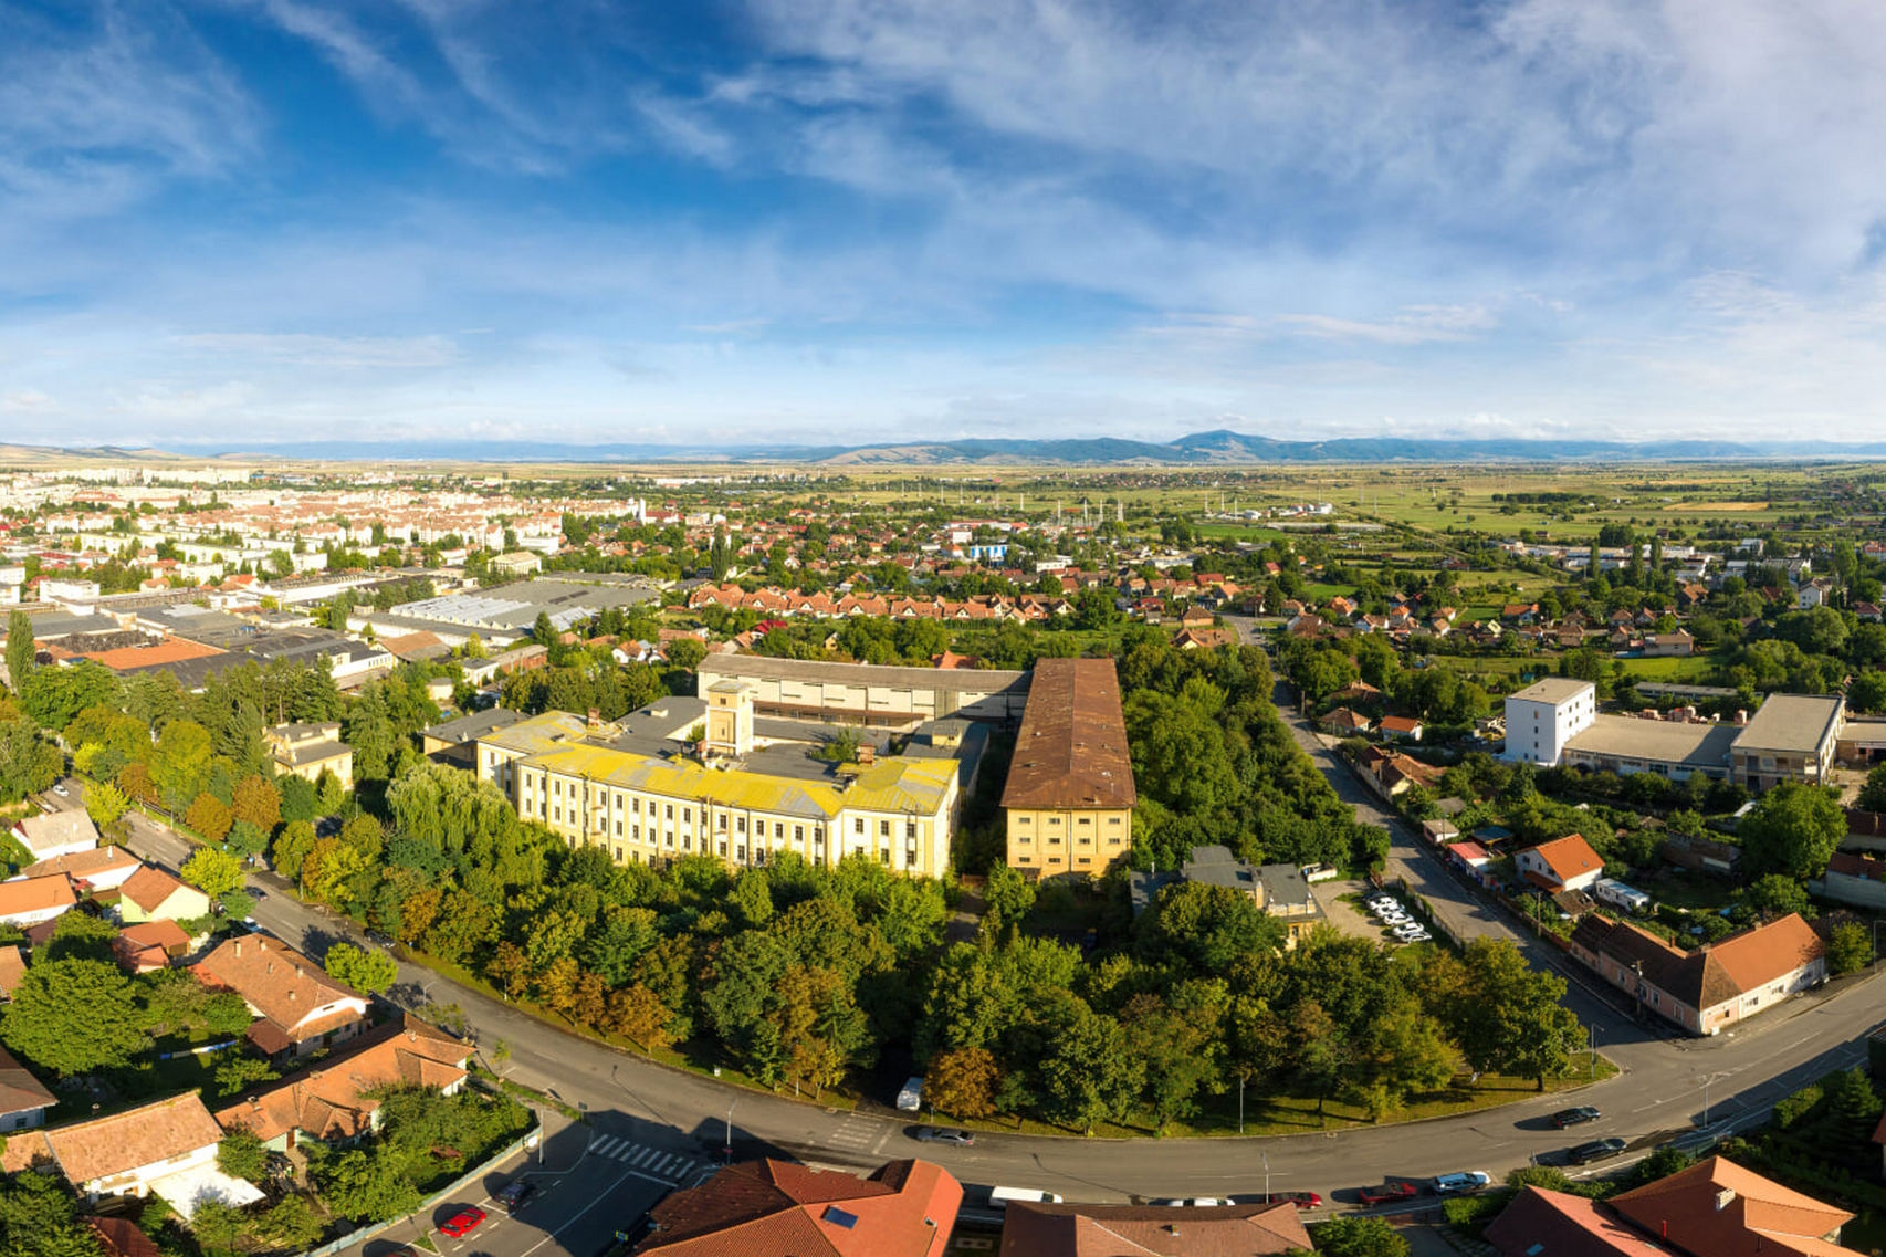
POLYGON ((854 1178, 786 1161, 732 1165, 651 1212, 636 1257, 943 1257, 962 1185, 928 1161, 854 1178))

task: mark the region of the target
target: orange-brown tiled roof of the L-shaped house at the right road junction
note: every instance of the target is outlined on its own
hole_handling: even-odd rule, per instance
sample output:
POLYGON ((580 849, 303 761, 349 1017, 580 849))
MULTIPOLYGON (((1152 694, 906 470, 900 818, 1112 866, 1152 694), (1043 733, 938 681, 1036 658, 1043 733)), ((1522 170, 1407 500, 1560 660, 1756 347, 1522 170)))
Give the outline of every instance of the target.
POLYGON ((1571 942, 1614 957, 1626 968, 1643 964, 1645 981, 1696 1010, 1733 1000, 1826 953, 1814 929, 1792 912, 1696 951, 1682 951, 1628 921, 1597 913, 1579 921, 1571 942))

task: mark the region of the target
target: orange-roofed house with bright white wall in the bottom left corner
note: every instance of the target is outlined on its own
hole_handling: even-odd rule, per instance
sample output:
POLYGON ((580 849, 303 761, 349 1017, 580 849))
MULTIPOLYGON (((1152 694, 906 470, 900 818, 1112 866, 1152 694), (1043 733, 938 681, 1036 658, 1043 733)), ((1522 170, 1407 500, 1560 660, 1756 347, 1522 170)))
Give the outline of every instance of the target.
POLYGON ((185 1217, 204 1200, 241 1206, 262 1191, 217 1168, 223 1127, 190 1091, 109 1117, 15 1134, 0 1168, 55 1165, 91 1202, 160 1195, 185 1217))

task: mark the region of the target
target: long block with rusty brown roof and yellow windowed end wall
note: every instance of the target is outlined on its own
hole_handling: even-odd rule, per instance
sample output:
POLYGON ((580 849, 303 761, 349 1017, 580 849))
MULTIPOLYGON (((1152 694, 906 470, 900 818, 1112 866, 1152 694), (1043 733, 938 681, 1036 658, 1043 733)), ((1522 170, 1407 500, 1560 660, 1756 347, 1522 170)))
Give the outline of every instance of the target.
POLYGON ((1133 847, 1135 800, 1113 661, 1037 661, 1001 791, 1009 868, 1107 872, 1133 847))

